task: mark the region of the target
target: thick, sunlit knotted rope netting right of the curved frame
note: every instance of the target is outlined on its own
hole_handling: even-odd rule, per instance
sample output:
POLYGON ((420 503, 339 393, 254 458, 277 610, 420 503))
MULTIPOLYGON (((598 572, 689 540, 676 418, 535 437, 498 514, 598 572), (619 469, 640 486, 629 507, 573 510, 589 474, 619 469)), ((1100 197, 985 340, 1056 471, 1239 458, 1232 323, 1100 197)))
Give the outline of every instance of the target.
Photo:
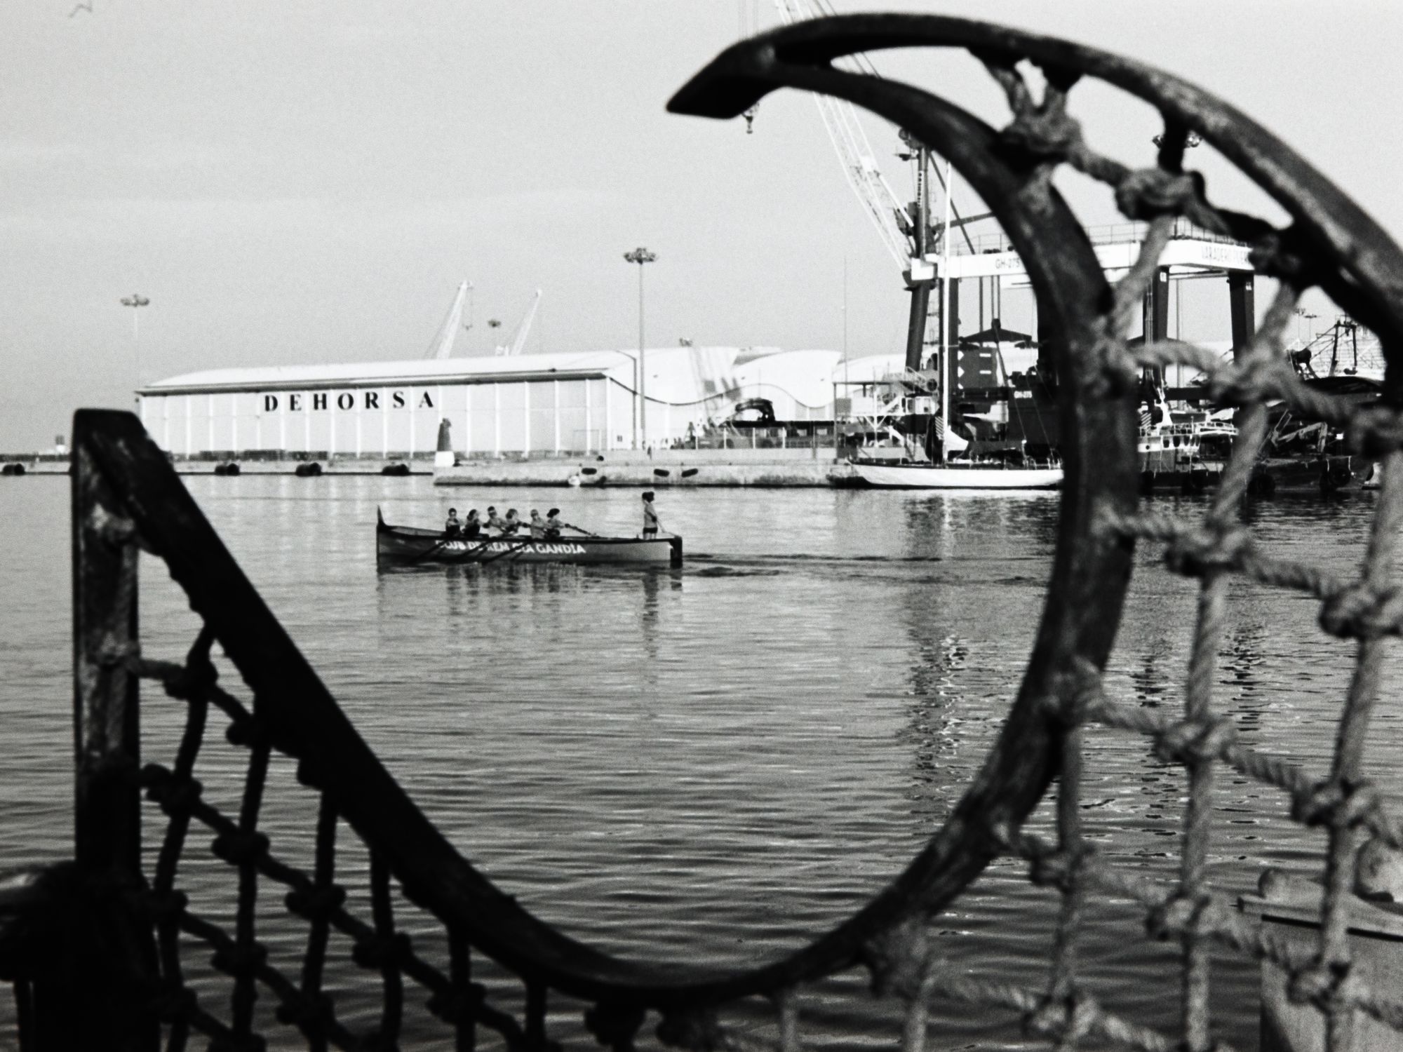
MULTIPOLYGON (((1215 209, 1202 194, 1202 182, 1181 168, 1187 128, 1169 122, 1160 140, 1159 167, 1131 170, 1099 154, 1085 140, 1079 123, 1068 115, 1066 83, 1048 77, 1045 93, 1034 100, 1016 66, 989 60, 986 66, 1003 87, 1013 111, 1005 142, 1047 159, 1049 167, 1065 161, 1078 171, 1108 184, 1121 210, 1131 219, 1148 219, 1149 230, 1131 271, 1115 285, 1106 316, 1101 344, 1101 390, 1134 384, 1142 367, 1188 365, 1208 377, 1208 391, 1219 405, 1237 405, 1239 433, 1207 512, 1198 522, 1152 511, 1118 513, 1101 509, 1099 529, 1107 539, 1148 540, 1164 546, 1164 562, 1174 574, 1198 582, 1197 621, 1180 720, 1108 697, 1100 672, 1080 668, 1079 682, 1058 699, 1066 732, 1056 790, 1056 840, 1010 833, 1007 850, 1028 860, 1030 877, 1055 888, 1061 896, 1051 948, 1051 971, 1041 990, 1016 989, 993 980, 953 975, 930 955, 930 940, 919 931, 898 936, 901 945, 888 957, 895 962, 895 990, 911 1004, 932 994, 1005 1006, 1024 1013, 1030 1031, 1070 1048, 1093 1039, 1146 1052, 1184 1048, 1207 1052, 1223 1048, 1214 1038, 1209 1016, 1209 955, 1215 944, 1280 966, 1289 982, 1291 999, 1319 1009, 1327 1020, 1331 1049, 1348 1045, 1355 1010, 1403 1030, 1403 1003, 1390 992, 1371 989, 1351 975, 1347 940, 1350 892, 1355 860, 1365 842, 1396 849, 1397 825, 1362 767, 1369 715, 1378 699, 1383 642, 1403 626, 1403 599, 1392 584, 1390 569, 1403 522, 1403 457, 1399 453, 1400 415, 1392 405, 1357 407, 1351 400, 1308 387, 1287 356, 1289 327, 1301 295, 1315 281, 1299 259, 1285 261, 1263 251, 1257 220, 1215 209), (1218 352, 1180 341, 1127 342, 1132 320, 1155 279, 1176 219, 1225 236, 1253 234, 1254 262, 1261 272, 1280 278, 1280 289, 1261 327, 1232 360, 1218 352), (1263 551, 1242 523, 1263 439, 1267 403, 1280 400, 1306 418, 1327 421, 1345 431, 1355 452, 1382 463, 1383 480, 1369 534, 1368 553, 1358 578, 1340 579, 1312 565, 1278 560, 1263 551), (1212 685, 1228 624, 1228 586, 1232 575, 1263 585, 1306 592, 1320 600, 1319 623, 1326 633, 1357 641, 1348 696, 1329 771, 1306 771, 1288 759, 1242 746, 1232 721, 1212 708, 1212 685), (1142 874, 1113 867, 1097 857, 1086 839, 1080 815, 1082 732, 1089 722, 1145 735, 1155 755, 1184 767, 1187 804, 1177 881, 1169 886, 1142 874), (1214 780, 1221 766, 1281 790, 1291 816, 1326 832, 1323 895, 1319 938, 1313 952, 1294 950, 1280 937, 1244 917, 1235 903, 1205 879, 1212 836, 1214 780), (1108 893, 1139 902, 1146 929, 1155 938, 1181 947, 1181 1032, 1170 1037, 1120 1018, 1078 983, 1076 943, 1087 895, 1108 893)), ((1278 234, 1278 231, 1273 231, 1278 234)), ((1284 233, 1284 231, 1281 231, 1284 233)), ((1275 237, 1278 243, 1284 236, 1275 237)), ((909 1044, 909 1042, 908 1042, 909 1044)))

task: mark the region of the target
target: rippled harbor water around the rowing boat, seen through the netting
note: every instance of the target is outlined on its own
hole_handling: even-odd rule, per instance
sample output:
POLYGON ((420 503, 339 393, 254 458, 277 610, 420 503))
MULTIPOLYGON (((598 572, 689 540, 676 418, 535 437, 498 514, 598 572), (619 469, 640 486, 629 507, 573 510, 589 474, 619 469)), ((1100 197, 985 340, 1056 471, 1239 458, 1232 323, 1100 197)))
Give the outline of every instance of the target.
MULTIPOLYGON (((679 571, 377 572, 377 506, 389 522, 432 526, 449 505, 558 505, 568 522, 633 534, 638 492, 445 492, 428 478, 376 477, 185 484, 380 759, 502 889, 612 952, 734 966, 796 950, 849 916, 940 828, 1017 690, 1058 520, 1056 494, 661 491, 664 527, 686 537, 679 571)), ((1157 504, 1202 509, 1201 498, 1157 504)), ((1275 499, 1250 518, 1273 551, 1347 574, 1372 509, 1369 494, 1275 499)), ((67 480, 6 478, 0 512, 8 868, 58 861, 72 847, 67 480)), ((156 560, 142 557, 142 575, 146 654, 177 659, 196 621, 156 560)), ((1113 696, 1177 710, 1194 603, 1194 582, 1143 548, 1110 663, 1113 696)), ((1215 707, 1246 745, 1323 773, 1352 647, 1323 635, 1316 614, 1308 599, 1235 582, 1215 707)), ((1399 682, 1390 659, 1368 757, 1395 797, 1399 682)), ((231 673, 224 683, 247 700, 231 673)), ((143 687, 143 760, 173 762, 181 717, 180 703, 143 687)), ((216 731, 206 738, 196 774, 206 798, 233 811, 243 756, 216 731)), ((275 763, 264 829, 279 857, 307 864, 314 800, 292 766, 275 763), (286 802, 293 797, 300 809, 286 802)), ((1183 800, 1181 770, 1145 741, 1087 735, 1082 805, 1103 857, 1170 879, 1183 800)), ((1042 828, 1045 811, 1034 819, 1042 828)), ((1322 836, 1287 812, 1275 790, 1219 777, 1218 886, 1251 891, 1266 865, 1319 872, 1322 836)), ((227 923, 230 872, 195 858, 208 856, 208 839, 191 835, 182 881, 192 908, 227 923)), ((304 929, 279 934, 271 919, 281 898, 265 893, 260 910, 274 924, 275 964, 295 969, 304 929)), ((941 952, 953 968, 1041 986, 1055 906, 1023 864, 999 861, 939 919, 941 952)), ((1146 937, 1129 903, 1089 910, 1086 989, 1108 1009, 1173 1028, 1177 955, 1146 937)), ((344 1002, 352 1023, 369 1025, 356 983, 373 1004, 379 979, 359 975, 333 976, 338 1014, 344 1002)), ((897 1010, 874 1006, 864 982, 854 972, 814 992, 810 1027, 843 1044, 894 1041, 897 1010)), ((1256 1046, 1254 964, 1221 959, 1214 1007, 1221 1038, 1256 1046)), ((939 1048, 1035 1044, 1009 1011, 937 1003, 932 1021, 939 1048)), ((0 1024, 4 1045, 8 1003, 0 1024)), ((551 1025, 592 1046, 564 1017, 551 1025)), ((414 1039, 411 1031, 405 1044, 414 1039)))

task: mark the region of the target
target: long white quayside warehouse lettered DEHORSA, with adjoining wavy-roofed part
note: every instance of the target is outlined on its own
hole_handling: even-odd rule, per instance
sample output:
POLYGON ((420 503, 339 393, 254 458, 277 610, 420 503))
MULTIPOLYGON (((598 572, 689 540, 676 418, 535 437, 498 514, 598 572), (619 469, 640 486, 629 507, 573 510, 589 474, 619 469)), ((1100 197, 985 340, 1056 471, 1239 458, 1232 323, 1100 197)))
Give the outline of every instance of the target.
MULTIPOLYGON (((460 456, 592 453, 633 445, 636 359, 598 351, 212 369, 137 397, 146 429, 177 456, 408 457, 435 449, 441 419, 460 456)), ((650 446, 751 398, 767 398, 781 421, 829 419, 843 379, 833 351, 673 346, 647 351, 644 365, 650 446)))

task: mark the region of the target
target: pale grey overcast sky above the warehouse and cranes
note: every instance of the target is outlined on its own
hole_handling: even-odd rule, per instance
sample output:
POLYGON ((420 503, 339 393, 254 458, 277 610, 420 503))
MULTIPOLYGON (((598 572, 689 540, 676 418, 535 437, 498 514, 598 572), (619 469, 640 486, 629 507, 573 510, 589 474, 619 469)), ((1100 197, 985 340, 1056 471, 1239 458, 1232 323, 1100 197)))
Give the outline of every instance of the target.
MULTIPOLYGON (((1153 62, 1233 101, 1403 233, 1393 0, 836 3, 1006 21, 1153 62)), ((638 244, 659 257, 651 345, 840 349, 845 261, 850 352, 902 345, 899 274, 810 100, 772 97, 753 135, 664 112, 742 18, 777 21, 767 0, 73 8, 7 4, 0 38, 0 450, 51 443, 79 405, 129 404, 132 311, 118 300, 133 292, 152 300, 145 380, 417 358, 463 279, 464 349, 509 332, 536 288, 529 351, 629 346, 637 272, 622 252, 638 244)), ((968 59, 878 65, 1002 114, 968 59)), ((1094 87, 1073 101, 1097 146, 1150 160, 1153 114, 1094 87)), ((895 151, 880 122, 868 135, 895 151)), ((1198 153, 1211 194, 1246 203, 1198 153)), ((899 161, 888 174, 905 194, 899 161)), ((1089 222, 1114 219, 1106 195, 1069 192, 1089 222)), ((1186 292, 1186 335, 1221 339, 1226 296, 1208 285, 1186 292)))

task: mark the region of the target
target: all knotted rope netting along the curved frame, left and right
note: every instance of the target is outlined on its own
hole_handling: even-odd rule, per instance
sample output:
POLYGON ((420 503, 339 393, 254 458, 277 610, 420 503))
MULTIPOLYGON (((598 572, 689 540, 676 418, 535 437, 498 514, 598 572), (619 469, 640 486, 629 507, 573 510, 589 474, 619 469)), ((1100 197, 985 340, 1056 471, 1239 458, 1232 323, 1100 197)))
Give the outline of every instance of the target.
MULTIPOLYGON (((1357 1013, 1403 1030, 1403 1003, 1351 973, 1347 938, 1357 853, 1365 843, 1388 847, 1403 843, 1395 818, 1386 812, 1362 764, 1385 641, 1403 626, 1403 593, 1390 578, 1403 520, 1399 452, 1403 417, 1392 404, 1361 408, 1312 390, 1295 375, 1285 341, 1299 297, 1315 285, 1337 288, 1340 282, 1324 264, 1312 264, 1292 248, 1289 230, 1221 210, 1205 199, 1201 178, 1183 170, 1188 133, 1184 123, 1166 121, 1159 164, 1132 170, 1096 153, 1069 116, 1068 90, 1075 77, 1048 76, 1042 97, 1035 100, 1016 62, 988 53, 981 58, 1003 87, 1013 112, 1000 142, 1035 159, 1030 178, 1049 180, 1058 164, 1070 164, 1108 184, 1129 219, 1149 223, 1135 265, 1114 286, 1104 307, 1094 349, 1097 360, 1079 397, 1120 397, 1135 387, 1141 369, 1183 363, 1208 375, 1207 389, 1214 401, 1240 407, 1232 457, 1201 519, 1136 511, 1132 504, 1129 511, 1117 511, 1104 502, 1096 511, 1094 536, 1089 540, 1127 548, 1135 541, 1162 544, 1167 567, 1197 582, 1197 623, 1181 717, 1166 718, 1120 701, 1103 687, 1096 663, 1073 665, 1058 689, 1042 699, 1042 715, 1058 728, 1051 746, 1058 774, 1055 837, 1030 835, 1021 822, 989 818, 996 854, 1024 860, 1031 881, 1058 896, 1045 982, 1019 986, 953 966, 940 952, 934 930, 939 910, 927 909, 919 896, 895 915, 864 912, 854 917, 849 930, 859 934, 852 951, 825 957, 811 948, 812 952, 804 951, 753 973, 707 975, 675 986, 648 985, 640 978, 647 972, 643 968, 627 973, 634 976, 631 980, 617 976, 585 980, 579 978, 582 972, 571 972, 568 962, 561 964, 561 955, 553 958, 540 951, 532 958, 532 947, 492 944, 473 929, 474 916, 446 898, 435 899, 424 891, 397 895, 397 886, 407 885, 407 879, 384 844, 368 840, 356 846, 365 861, 348 865, 348 847, 338 840, 338 830, 345 828, 344 801, 325 788, 325 770, 306 759, 299 762, 297 777, 307 791, 317 794, 314 828, 309 830, 314 846, 310 864, 290 864, 274 851, 260 821, 271 760, 279 753, 304 756, 304 743, 289 736, 272 710, 265 711, 258 703, 246 706, 220 686, 210 655, 216 637, 226 649, 229 640, 210 627, 206 613, 206 624, 182 662, 152 661, 136 647, 111 647, 102 654, 102 665, 109 670, 160 683, 166 694, 187 708, 174 760, 149 763, 132 773, 146 798, 164 815, 140 905, 154 930, 159 982, 153 1003, 168 1048, 185 1048, 199 1034, 212 1039, 210 1048, 261 1049, 265 1041, 258 1031, 265 1027, 300 1034, 313 1049, 394 1048, 405 1039, 405 1014, 418 1013, 422 1004, 457 1048, 473 1048, 485 1034, 509 1049, 542 1049, 551 1046, 546 1032, 550 994, 557 1003, 563 996, 564 1003, 578 1006, 585 1028, 600 1045, 613 1049, 631 1048, 652 1014, 654 1032, 666 1045, 696 1052, 796 1052, 805 1044, 828 1039, 817 1027, 805 1027, 807 993, 829 975, 864 966, 874 992, 901 1006, 899 1044, 912 1052, 926 1045, 933 999, 1012 1010, 1021 1016, 1030 1034, 1059 1049, 1113 1045, 1145 1052, 1208 1052, 1226 1048, 1215 1038, 1209 1011, 1209 961, 1219 947, 1281 968, 1288 975, 1291 996, 1324 1016, 1331 1052, 1347 1046, 1357 1013), (1214 234, 1251 241, 1258 272, 1280 282, 1263 324, 1236 348, 1232 360, 1187 342, 1139 346, 1128 342, 1179 219, 1214 234), (1271 400, 1344 429, 1361 454, 1382 463, 1383 481, 1368 553, 1355 578, 1343 579, 1275 558, 1243 525, 1240 511, 1266 433, 1266 404, 1271 400), (1313 596, 1320 602, 1322 630, 1357 644, 1329 770, 1309 771, 1285 757, 1243 746, 1232 721, 1214 710, 1212 683, 1228 621, 1228 588, 1235 575, 1313 596), (236 808, 213 805, 195 777, 196 759, 216 720, 223 721, 227 741, 247 750, 236 808), (1090 724, 1142 735, 1160 760, 1183 766, 1187 804, 1172 882, 1113 865, 1090 842, 1080 808, 1087 762, 1082 739, 1083 728, 1090 724), (1299 943, 1274 937, 1207 879, 1214 785, 1225 767, 1275 787, 1296 822, 1324 830, 1319 933, 1309 952, 1299 943), (178 886, 196 829, 213 835, 213 857, 227 868, 237 888, 231 919, 224 924, 196 912, 178 886), (286 916, 304 924, 304 941, 293 966, 279 966, 261 938, 260 919, 276 909, 272 899, 279 895, 286 916), (1083 983, 1078 951, 1089 896, 1139 903, 1149 937, 1179 945, 1179 1032, 1160 1032, 1107 1010, 1083 983), (436 951, 424 948, 429 941, 425 933, 431 930, 436 933, 436 951), (379 979, 377 1014, 368 1030, 358 1031, 338 1016, 328 990, 333 950, 341 940, 349 943, 351 962, 379 979), (210 969, 201 976, 189 965, 196 945, 212 951, 210 969), (515 976, 515 994, 504 1000, 499 985, 490 989, 474 978, 473 950, 484 961, 495 961, 495 965, 488 961, 492 975, 515 976), (215 989, 210 976, 222 976, 217 996, 210 994, 215 989), (257 1009, 260 992, 272 1007, 271 1014, 257 1009)), ((1122 403, 1132 415, 1134 403, 1122 403)), ((114 483, 114 488, 119 487, 114 483)), ((118 492, 118 504, 125 499, 118 492)), ((90 512, 94 529, 114 544, 150 543, 125 515, 101 504, 90 512)), ((153 548, 168 557, 160 543, 153 548)), ((135 560, 132 567, 116 588, 118 610, 135 609, 135 560)), ((247 663, 236 663, 248 679, 247 663)))

